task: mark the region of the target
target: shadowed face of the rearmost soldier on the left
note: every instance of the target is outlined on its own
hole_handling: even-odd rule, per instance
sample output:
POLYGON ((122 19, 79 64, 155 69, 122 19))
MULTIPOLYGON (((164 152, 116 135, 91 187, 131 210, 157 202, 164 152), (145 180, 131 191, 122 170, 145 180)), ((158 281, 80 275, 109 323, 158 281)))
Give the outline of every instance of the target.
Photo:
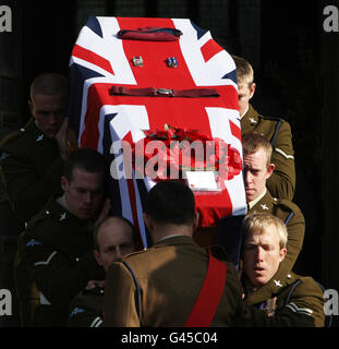
POLYGON ((62 95, 37 94, 28 101, 38 128, 48 137, 56 137, 64 119, 65 101, 62 95))

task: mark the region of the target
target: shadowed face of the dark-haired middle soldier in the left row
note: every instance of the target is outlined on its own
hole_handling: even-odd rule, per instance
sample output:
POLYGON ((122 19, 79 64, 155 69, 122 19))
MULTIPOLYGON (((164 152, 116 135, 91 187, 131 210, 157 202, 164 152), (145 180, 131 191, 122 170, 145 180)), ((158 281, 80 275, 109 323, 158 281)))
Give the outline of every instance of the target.
POLYGON ((61 178, 61 188, 74 216, 80 219, 90 219, 96 216, 104 197, 102 173, 90 173, 75 167, 71 182, 64 177, 61 178))

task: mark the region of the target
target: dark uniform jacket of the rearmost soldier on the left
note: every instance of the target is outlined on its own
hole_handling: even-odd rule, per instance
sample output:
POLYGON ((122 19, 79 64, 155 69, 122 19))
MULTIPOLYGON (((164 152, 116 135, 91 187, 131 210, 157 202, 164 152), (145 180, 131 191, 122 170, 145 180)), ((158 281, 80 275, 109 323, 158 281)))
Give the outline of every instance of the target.
POLYGON ((56 140, 47 137, 31 119, 25 128, 0 144, 5 192, 20 219, 28 221, 60 191, 63 160, 56 140))

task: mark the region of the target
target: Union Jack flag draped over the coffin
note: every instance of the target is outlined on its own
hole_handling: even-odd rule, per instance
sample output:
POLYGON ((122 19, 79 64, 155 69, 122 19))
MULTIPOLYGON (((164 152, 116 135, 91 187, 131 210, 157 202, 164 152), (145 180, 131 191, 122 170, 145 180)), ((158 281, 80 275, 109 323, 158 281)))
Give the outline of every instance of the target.
MULTIPOLYGON (((235 64, 211 37, 186 19, 90 17, 82 28, 70 60, 70 127, 81 147, 92 147, 114 160, 112 143, 137 142, 141 130, 164 129, 164 124, 194 128, 220 137, 242 155, 235 64), (122 40, 121 29, 170 27, 183 35, 175 41, 122 40), (133 64, 142 57, 143 67, 133 64), (174 57, 178 68, 169 68, 174 57), (112 85, 125 87, 217 88, 218 98, 111 96, 112 85)), ((112 213, 138 228, 144 246, 150 243, 144 226, 143 207, 154 184, 146 179, 110 179, 112 213)), ((197 207, 208 215, 242 215, 246 210, 243 178, 226 181, 222 197, 195 194, 197 207), (204 201, 204 204, 203 204, 204 201)))

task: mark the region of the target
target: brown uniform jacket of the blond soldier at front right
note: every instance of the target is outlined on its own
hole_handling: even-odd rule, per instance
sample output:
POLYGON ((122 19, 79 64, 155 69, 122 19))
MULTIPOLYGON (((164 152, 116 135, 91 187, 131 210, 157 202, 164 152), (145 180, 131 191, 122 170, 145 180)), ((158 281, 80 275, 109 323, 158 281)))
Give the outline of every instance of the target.
MULTIPOLYGON (((284 274, 281 272, 271 278, 269 282, 254 290, 247 290, 244 302, 262 309, 268 316, 275 315, 279 324, 279 313, 289 309, 292 315, 284 322, 284 326, 307 326, 304 324, 306 318, 296 320, 299 314, 312 316, 316 327, 323 327, 325 324, 324 314, 324 294, 322 288, 312 277, 299 276, 294 273, 284 274), (299 285, 295 281, 300 281, 299 285), (294 289, 293 285, 296 285, 294 289)), ((275 321, 275 318, 273 318, 275 321)))

